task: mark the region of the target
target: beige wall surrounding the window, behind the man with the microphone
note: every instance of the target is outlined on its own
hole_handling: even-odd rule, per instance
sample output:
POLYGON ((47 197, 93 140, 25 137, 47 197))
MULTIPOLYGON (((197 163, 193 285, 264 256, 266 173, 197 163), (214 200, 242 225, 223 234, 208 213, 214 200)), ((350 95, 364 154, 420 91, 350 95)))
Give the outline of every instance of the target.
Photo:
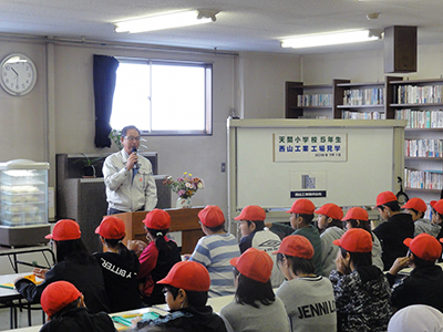
POLYGON ((150 151, 158 152, 159 173, 178 177, 188 172, 205 180, 206 188, 194 196, 194 205, 215 204, 224 210, 227 210, 227 174, 220 168, 227 162, 226 120, 230 110, 234 107, 248 117, 282 117, 285 81, 298 80, 300 75, 299 58, 287 55, 250 53, 239 61, 237 55, 212 53, 2 41, 0 49, 2 56, 23 52, 34 60, 39 72, 38 84, 27 96, 12 97, 0 90, 4 142, 1 160, 49 160, 52 186, 56 153, 115 151, 115 147, 94 146, 93 54, 213 63, 213 135, 153 136, 147 137, 146 145, 150 151), (247 87, 244 91, 240 81, 247 87))

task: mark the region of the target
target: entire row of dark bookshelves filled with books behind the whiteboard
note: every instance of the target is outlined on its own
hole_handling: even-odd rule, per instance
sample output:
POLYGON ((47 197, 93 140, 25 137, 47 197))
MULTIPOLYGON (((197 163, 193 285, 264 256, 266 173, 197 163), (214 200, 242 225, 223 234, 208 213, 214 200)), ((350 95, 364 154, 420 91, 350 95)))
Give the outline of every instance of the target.
POLYGON ((318 114, 323 118, 346 118, 350 114, 354 118, 369 118, 369 114, 371 117, 380 114, 380 118, 408 120, 405 148, 411 141, 416 141, 413 144, 421 144, 422 154, 405 154, 405 191, 410 197, 419 196, 427 203, 440 199, 443 154, 435 153, 439 149, 435 144, 439 146, 443 141, 443 79, 403 81, 399 76, 385 76, 383 82, 369 83, 336 79, 331 85, 286 82, 286 117, 318 117, 318 114), (309 95, 324 91, 331 93, 330 106, 298 104, 301 96, 309 98, 309 95), (433 148, 423 153, 423 144, 430 142, 433 142, 433 148))

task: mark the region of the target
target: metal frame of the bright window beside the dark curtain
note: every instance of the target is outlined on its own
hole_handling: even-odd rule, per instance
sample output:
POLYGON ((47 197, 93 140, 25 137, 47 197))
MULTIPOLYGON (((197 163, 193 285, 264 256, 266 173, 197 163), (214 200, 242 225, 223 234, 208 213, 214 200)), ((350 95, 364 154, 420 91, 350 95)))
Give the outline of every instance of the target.
MULTIPOLYGON (((203 131, 146 131, 140 128, 142 136, 210 136, 213 135, 213 63, 198 62, 198 61, 183 61, 183 60, 162 60, 162 59, 141 59, 141 58, 123 58, 116 56, 121 63, 137 63, 146 64, 150 68, 153 64, 162 65, 179 65, 179 66, 198 66, 205 71, 205 128, 203 131)), ((150 80, 152 80, 152 71, 150 70, 150 80)), ((152 83, 152 81, 151 81, 152 83)), ((152 90, 152 85, 150 84, 152 90)), ((152 93, 150 92, 150 96, 152 93)), ((150 98, 151 103, 151 98, 150 98)), ((152 108, 152 106, 151 106, 152 108)), ((152 127, 152 111, 150 112, 151 127, 152 127)), ((137 124, 134 124, 138 127, 137 124)))

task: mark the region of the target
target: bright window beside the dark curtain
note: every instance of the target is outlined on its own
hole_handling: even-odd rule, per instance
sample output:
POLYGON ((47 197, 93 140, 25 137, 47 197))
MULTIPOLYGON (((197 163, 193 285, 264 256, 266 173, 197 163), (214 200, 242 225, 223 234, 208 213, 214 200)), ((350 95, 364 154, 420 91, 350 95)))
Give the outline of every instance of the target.
POLYGON ((212 64, 119 60, 111 126, 142 134, 212 134, 212 64))

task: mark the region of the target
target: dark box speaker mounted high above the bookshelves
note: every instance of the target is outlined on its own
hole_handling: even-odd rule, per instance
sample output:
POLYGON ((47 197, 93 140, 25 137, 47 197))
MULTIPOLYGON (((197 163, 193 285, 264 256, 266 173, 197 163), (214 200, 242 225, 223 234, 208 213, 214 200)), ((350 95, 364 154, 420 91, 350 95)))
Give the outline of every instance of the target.
POLYGON ((416 72, 416 27, 384 29, 384 72, 416 72))

